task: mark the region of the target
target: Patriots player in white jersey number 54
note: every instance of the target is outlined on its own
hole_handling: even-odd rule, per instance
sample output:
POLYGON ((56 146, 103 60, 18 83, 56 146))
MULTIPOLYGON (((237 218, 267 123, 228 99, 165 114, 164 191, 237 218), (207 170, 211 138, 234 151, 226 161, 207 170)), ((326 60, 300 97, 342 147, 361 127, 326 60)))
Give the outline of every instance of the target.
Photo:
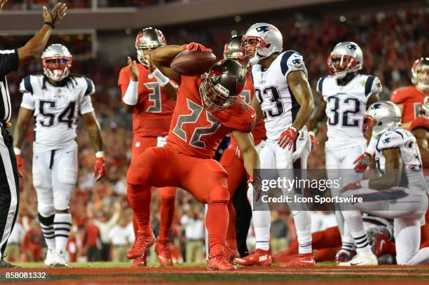
POLYGON ((79 114, 95 149, 94 176, 106 174, 100 125, 90 95, 93 81, 70 75, 72 56, 65 46, 48 46, 42 56, 43 75, 30 75, 20 83, 22 103, 13 137, 22 176, 20 147, 29 120, 34 116, 33 186, 37 194, 39 222, 48 245, 45 265, 67 266, 65 251, 71 228, 69 202, 76 186, 78 162, 76 127, 79 114))

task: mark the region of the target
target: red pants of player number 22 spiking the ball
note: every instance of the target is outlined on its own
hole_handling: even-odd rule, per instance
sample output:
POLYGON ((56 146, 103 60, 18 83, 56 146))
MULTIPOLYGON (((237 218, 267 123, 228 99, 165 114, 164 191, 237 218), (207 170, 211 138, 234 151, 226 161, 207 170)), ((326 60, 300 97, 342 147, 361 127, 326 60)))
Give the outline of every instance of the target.
POLYGON ((151 186, 180 187, 208 204, 205 225, 210 254, 224 250, 229 219, 227 176, 216 160, 177 153, 169 146, 148 148, 132 160, 127 175, 128 199, 139 230, 150 225, 151 186))

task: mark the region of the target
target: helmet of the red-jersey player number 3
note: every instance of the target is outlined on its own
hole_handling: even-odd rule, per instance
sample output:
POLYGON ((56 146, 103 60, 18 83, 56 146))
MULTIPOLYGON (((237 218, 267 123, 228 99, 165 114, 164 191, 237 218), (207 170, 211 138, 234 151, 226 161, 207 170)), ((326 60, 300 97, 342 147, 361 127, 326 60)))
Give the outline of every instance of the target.
POLYGON ((142 29, 135 38, 135 48, 137 49, 137 60, 145 67, 149 66, 146 53, 150 49, 167 46, 165 36, 159 29, 152 27, 142 29))

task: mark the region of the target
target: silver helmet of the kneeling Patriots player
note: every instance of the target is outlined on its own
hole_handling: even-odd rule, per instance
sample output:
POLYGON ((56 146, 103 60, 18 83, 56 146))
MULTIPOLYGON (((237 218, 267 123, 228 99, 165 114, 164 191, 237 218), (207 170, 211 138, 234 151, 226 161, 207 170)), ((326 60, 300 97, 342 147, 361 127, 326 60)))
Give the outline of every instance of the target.
POLYGON ((401 110, 390 101, 376 102, 369 106, 364 116, 364 131, 372 137, 379 137, 383 132, 401 127, 401 110))

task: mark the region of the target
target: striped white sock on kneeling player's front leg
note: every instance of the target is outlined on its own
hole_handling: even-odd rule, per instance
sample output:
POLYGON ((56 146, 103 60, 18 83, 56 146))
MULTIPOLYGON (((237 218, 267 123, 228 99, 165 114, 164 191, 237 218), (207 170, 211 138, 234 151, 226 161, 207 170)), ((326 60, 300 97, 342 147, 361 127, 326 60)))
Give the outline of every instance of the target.
POLYGON ((343 211, 343 216, 355 240, 356 251, 358 253, 371 252, 371 246, 369 246, 367 232, 365 232, 363 227, 362 214, 360 214, 360 211, 343 211))

